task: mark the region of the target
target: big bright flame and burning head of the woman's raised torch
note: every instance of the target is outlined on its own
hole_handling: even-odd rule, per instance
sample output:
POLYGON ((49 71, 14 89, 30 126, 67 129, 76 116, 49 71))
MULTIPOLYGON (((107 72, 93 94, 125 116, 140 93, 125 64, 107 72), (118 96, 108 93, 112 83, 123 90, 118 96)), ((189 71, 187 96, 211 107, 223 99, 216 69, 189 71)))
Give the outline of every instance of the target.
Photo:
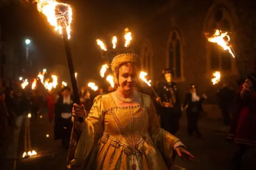
POLYGON ((35 0, 35 2, 37 2, 37 10, 47 17, 48 22, 55 27, 55 31, 62 33, 62 29, 66 28, 68 39, 70 39, 71 7, 54 0, 35 0))

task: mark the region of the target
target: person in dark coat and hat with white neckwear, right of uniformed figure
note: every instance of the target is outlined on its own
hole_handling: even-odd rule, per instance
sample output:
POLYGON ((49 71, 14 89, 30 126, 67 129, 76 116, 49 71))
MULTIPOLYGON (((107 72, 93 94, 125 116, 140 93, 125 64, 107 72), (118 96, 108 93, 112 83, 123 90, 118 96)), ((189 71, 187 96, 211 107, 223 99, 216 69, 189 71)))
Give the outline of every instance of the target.
POLYGON ((203 97, 198 96, 196 88, 197 87, 194 84, 190 85, 190 92, 186 94, 183 108, 187 114, 188 134, 193 135, 195 132, 197 138, 201 138, 202 134, 198 130, 197 123, 199 115, 203 111, 202 102, 206 98, 206 95, 203 95, 203 97))

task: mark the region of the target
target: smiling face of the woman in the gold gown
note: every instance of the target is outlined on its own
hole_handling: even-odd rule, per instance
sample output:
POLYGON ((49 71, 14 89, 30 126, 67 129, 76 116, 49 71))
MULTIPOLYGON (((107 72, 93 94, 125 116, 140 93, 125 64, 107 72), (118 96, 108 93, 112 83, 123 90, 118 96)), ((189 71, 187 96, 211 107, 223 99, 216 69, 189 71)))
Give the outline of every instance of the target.
POLYGON ((119 69, 118 86, 123 91, 132 91, 137 83, 137 75, 134 67, 131 65, 123 65, 119 69))

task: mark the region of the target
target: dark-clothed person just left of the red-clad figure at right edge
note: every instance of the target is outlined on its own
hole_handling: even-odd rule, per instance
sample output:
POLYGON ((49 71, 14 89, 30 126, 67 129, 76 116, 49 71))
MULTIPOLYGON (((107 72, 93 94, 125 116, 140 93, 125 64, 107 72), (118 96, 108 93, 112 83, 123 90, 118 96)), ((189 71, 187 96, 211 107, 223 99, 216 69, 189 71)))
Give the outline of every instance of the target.
POLYGON ((230 125, 230 112, 235 100, 234 94, 235 92, 228 88, 227 83, 223 83, 222 88, 217 94, 219 107, 222 111, 223 123, 225 125, 230 125))

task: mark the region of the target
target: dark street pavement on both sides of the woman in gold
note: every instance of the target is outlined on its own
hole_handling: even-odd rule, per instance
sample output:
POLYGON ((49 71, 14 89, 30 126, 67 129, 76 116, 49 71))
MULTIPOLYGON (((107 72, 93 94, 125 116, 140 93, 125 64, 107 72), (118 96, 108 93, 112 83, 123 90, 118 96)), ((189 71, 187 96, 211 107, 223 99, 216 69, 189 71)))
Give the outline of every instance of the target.
MULTIPOLYGON (((67 149, 61 147, 60 141, 53 140, 53 123, 47 120, 47 114, 43 114, 42 118, 37 121, 29 120, 29 128, 26 127, 27 117, 23 117, 21 128, 17 133, 13 133, 13 142, 9 142, 4 162, 2 162, 3 169, 67 169, 66 156, 67 149), (27 130, 26 130, 27 129, 27 130), (29 132, 28 132, 29 131, 29 132), (30 137, 28 137, 30 134, 30 137), (49 135, 47 137, 46 135, 49 135), (18 138, 17 138, 18 135, 18 138), (17 143, 17 139, 19 142, 17 143), (36 156, 27 159, 22 158, 25 150, 35 150, 36 156), (28 147, 26 149, 26 147, 28 147), (15 149, 17 151, 15 152, 15 149), (14 154, 17 153, 17 154, 14 154)), ((201 118, 198 122, 199 129, 203 137, 197 139, 196 137, 188 136, 186 131, 186 117, 183 116, 180 120, 180 130, 176 134, 178 138, 186 145, 187 149, 196 156, 195 162, 187 162, 181 158, 177 158, 174 162, 174 170, 221 170, 230 169, 230 160, 233 157, 236 146, 234 143, 226 141, 226 133, 229 127, 223 126, 221 121, 213 121, 206 118, 201 118)), ((255 149, 251 149, 244 156, 244 169, 256 169, 253 166, 255 149)), ((2 168, 0 168, 2 169, 2 168)))

